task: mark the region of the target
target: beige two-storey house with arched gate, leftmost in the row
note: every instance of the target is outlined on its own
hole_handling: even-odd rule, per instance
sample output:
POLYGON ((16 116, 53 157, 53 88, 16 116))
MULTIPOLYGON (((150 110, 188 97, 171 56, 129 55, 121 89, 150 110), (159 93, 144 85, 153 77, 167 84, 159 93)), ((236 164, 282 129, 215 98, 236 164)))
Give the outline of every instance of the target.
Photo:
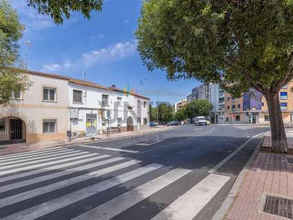
POLYGON ((66 138, 68 79, 64 76, 21 70, 33 82, 29 90, 12 94, 0 108, 0 144, 66 138))

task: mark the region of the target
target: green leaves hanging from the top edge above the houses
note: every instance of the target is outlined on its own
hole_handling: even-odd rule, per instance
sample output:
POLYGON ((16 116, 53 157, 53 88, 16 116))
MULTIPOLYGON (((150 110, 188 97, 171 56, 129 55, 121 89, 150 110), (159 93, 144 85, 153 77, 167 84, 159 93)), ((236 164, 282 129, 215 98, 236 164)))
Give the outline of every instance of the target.
POLYGON ((36 8, 40 14, 50 15, 57 24, 63 23, 63 17, 69 19, 71 12, 79 11, 89 19, 91 11, 102 10, 102 0, 28 0, 28 5, 36 8))

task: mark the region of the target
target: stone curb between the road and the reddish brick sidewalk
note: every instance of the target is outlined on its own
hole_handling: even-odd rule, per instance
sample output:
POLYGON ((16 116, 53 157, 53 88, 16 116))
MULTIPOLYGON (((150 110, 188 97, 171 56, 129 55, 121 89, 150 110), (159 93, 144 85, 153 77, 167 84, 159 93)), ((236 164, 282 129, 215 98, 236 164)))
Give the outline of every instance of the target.
POLYGON ((232 203, 237 197, 238 190, 242 185, 243 179, 246 177, 250 166, 254 162, 254 159, 257 157, 257 154, 259 153, 259 149, 261 148, 261 144, 263 144, 263 140, 266 134, 267 133, 265 133, 263 137, 261 137, 259 144, 257 144, 257 147, 254 149, 250 159, 248 159, 248 162, 246 162, 246 164, 243 166, 243 169, 241 170, 238 177, 236 178, 230 192, 228 193, 228 196, 226 197, 224 202, 221 204, 221 207, 219 208, 219 210, 217 210, 217 212, 214 214, 212 220, 224 220, 224 218, 226 217, 228 210, 231 208, 232 203))

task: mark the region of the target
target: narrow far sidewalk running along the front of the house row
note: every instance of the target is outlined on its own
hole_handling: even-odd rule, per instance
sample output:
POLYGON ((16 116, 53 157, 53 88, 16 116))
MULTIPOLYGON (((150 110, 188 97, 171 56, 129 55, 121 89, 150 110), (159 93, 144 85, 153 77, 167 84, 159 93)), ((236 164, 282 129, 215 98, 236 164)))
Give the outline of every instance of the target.
POLYGON ((139 135, 142 133, 153 133, 153 132, 158 132, 158 131, 166 131, 171 129, 172 127, 167 127, 167 126, 158 126, 155 128, 149 128, 149 129, 144 129, 141 131, 135 131, 135 132, 122 132, 122 133, 114 133, 110 134, 110 137, 108 137, 107 134, 102 134, 102 135, 96 135, 94 136, 94 139, 92 137, 80 137, 73 139, 72 142, 69 142, 67 139, 66 140, 52 140, 52 141, 45 141, 45 142, 36 142, 36 143, 22 143, 22 144, 9 144, 9 145, 0 145, 0 155, 6 155, 10 153, 21 153, 25 151, 35 151, 35 150, 41 150, 44 148, 50 148, 54 146, 67 146, 68 144, 85 144, 88 142, 97 142, 99 140, 109 140, 113 138, 118 138, 118 137, 131 137, 132 135, 139 135))

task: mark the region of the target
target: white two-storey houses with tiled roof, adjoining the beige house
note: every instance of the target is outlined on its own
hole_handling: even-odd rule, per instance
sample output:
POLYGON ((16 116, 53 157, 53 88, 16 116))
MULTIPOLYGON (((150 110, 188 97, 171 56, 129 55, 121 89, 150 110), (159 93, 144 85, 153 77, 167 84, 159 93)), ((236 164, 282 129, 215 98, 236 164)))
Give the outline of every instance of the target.
POLYGON ((69 115, 73 137, 134 131, 149 126, 149 98, 102 87, 85 80, 69 80, 69 115), (110 118, 108 118, 110 117, 110 118))

